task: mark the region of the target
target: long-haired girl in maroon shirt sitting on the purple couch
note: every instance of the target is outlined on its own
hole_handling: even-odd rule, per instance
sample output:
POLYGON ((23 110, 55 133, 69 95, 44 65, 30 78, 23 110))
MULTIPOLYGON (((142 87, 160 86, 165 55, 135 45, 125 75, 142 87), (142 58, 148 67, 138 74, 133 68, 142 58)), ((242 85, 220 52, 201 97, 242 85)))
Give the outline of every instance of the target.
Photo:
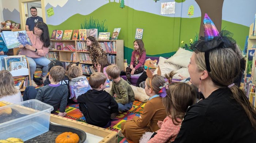
POLYGON ((133 42, 134 51, 131 53, 130 67, 126 68, 127 81, 131 82, 131 75, 139 74, 145 71, 143 65, 146 60, 146 50, 142 40, 135 40, 133 42))

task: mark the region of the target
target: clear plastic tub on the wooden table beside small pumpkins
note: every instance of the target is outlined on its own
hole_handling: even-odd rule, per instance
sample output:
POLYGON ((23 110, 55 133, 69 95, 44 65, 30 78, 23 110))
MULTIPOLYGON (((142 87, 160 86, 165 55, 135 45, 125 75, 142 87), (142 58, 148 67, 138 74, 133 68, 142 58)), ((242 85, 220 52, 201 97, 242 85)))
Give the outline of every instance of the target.
POLYGON ((11 108, 12 114, 0 115, 0 139, 20 138, 23 141, 49 131, 53 106, 36 99, 0 107, 11 108))

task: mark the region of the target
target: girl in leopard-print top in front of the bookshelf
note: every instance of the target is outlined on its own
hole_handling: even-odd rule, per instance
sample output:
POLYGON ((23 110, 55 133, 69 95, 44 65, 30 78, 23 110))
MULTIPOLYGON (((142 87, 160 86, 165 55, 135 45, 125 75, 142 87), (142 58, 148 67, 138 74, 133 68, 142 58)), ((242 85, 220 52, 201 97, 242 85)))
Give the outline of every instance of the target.
MULTIPOLYGON (((104 51, 99 45, 95 37, 89 36, 86 38, 86 45, 90 52, 90 57, 92 60, 92 65, 94 68, 98 65, 98 60, 101 57, 107 57, 106 51, 104 51)), ((97 71, 100 72, 100 71, 97 71)))

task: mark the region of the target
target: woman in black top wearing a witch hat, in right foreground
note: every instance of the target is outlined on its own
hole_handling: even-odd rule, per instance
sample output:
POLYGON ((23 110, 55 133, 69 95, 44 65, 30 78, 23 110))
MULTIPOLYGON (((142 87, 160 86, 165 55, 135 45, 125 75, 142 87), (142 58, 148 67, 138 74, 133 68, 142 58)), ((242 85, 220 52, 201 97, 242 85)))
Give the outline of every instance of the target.
POLYGON ((252 143, 255 107, 233 83, 241 62, 236 41, 226 30, 219 33, 207 15, 204 25, 205 37, 191 46, 188 72, 205 99, 187 109, 174 143, 252 143))

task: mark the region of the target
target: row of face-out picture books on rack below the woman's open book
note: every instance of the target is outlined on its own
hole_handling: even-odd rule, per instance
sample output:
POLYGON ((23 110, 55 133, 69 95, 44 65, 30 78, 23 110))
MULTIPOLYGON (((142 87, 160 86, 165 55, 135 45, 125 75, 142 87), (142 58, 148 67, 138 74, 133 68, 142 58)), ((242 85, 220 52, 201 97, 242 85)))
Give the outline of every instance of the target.
POLYGON ((14 71, 27 68, 26 56, 0 56, 0 70, 14 71))

